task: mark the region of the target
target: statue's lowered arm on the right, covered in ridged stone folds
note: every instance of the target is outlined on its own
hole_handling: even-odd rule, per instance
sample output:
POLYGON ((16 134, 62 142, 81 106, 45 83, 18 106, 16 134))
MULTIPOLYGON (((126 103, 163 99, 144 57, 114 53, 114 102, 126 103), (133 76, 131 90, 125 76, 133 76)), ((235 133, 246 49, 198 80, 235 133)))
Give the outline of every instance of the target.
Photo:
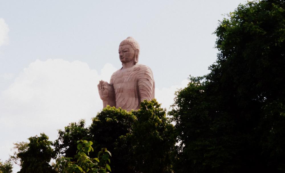
POLYGON ((143 66, 138 79, 139 100, 152 100, 154 98, 154 79, 149 67, 143 66))

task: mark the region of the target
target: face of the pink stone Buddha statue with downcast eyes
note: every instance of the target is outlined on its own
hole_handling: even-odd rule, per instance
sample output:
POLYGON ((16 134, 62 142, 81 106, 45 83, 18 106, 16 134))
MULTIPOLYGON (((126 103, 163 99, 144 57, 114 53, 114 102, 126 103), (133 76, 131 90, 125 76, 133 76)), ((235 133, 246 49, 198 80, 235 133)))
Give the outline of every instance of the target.
POLYGON ((130 44, 119 46, 119 58, 122 63, 128 63, 135 58, 135 50, 130 44))

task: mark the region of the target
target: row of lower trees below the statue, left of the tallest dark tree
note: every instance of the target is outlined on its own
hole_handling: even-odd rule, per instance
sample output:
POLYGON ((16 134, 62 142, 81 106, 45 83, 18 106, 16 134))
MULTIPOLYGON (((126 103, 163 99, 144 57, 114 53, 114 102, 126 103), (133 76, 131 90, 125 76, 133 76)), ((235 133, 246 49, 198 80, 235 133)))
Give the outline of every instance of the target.
POLYGON ((174 126, 156 100, 132 112, 107 106, 92 121, 70 123, 54 142, 42 133, 15 144, 19 173, 172 172, 174 126))

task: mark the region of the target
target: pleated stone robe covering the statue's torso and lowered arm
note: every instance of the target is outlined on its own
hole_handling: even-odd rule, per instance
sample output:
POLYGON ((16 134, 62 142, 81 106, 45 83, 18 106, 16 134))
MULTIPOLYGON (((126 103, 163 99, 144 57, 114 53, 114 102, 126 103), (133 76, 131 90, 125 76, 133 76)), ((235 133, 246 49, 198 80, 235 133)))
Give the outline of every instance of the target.
POLYGON ((154 98, 154 79, 149 67, 136 64, 113 73, 110 84, 115 90, 116 108, 137 110, 143 100, 154 98))

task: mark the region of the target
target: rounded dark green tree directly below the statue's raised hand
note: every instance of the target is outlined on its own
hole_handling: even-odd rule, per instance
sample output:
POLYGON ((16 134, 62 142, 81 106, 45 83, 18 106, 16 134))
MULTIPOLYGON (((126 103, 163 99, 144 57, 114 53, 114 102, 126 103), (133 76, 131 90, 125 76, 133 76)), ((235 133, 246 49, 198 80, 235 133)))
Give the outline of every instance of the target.
POLYGON ((131 144, 126 136, 132 133, 132 125, 135 121, 136 117, 132 112, 110 106, 105 107, 93 118, 90 127, 92 140, 97 146, 97 151, 105 147, 113 154, 111 163, 113 172, 130 171, 131 144))

